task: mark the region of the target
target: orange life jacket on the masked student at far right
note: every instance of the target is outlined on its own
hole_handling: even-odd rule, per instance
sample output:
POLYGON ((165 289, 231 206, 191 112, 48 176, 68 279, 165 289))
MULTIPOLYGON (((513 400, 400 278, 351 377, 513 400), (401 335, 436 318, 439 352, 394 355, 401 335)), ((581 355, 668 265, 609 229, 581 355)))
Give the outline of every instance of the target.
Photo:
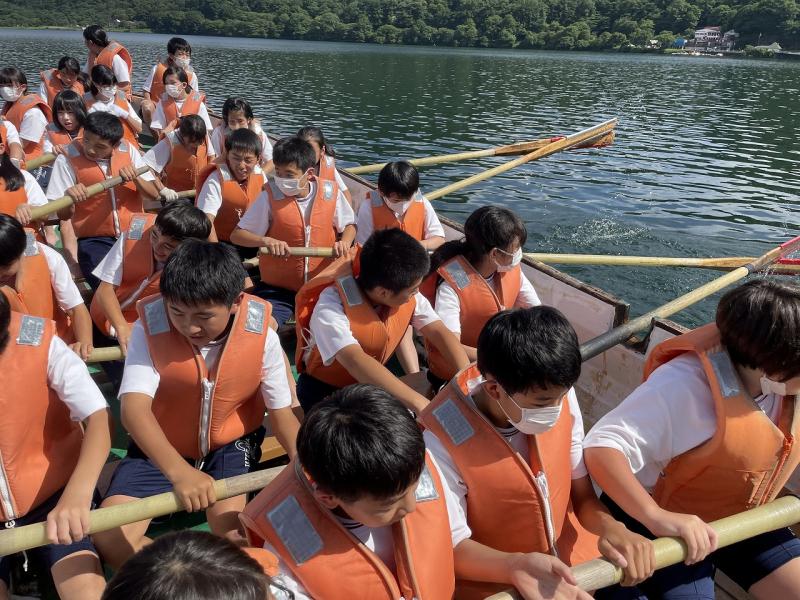
POLYGON ((697 515, 706 522, 772 501, 800 464, 796 398, 783 398, 776 426, 743 389, 713 323, 656 346, 645 364, 645 380, 660 365, 687 352, 696 354, 703 365, 717 429, 711 439, 669 462, 653 498, 666 510, 697 515))

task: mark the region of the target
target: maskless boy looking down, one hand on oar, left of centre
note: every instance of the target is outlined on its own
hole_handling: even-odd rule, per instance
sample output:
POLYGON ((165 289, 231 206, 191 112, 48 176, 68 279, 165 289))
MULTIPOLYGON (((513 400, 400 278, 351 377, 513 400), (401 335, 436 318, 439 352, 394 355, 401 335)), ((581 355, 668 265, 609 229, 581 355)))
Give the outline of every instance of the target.
MULTIPOLYGON (((243 294, 246 273, 222 244, 185 240, 161 274, 160 296, 139 301, 119 397, 131 443, 102 506, 174 488, 206 510, 212 533, 237 537, 245 496, 216 501, 214 480, 258 463, 264 409, 290 456, 299 424, 269 303, 243 294)), ((145 545, 149 519, 95 536, 118 568, 145 545)))

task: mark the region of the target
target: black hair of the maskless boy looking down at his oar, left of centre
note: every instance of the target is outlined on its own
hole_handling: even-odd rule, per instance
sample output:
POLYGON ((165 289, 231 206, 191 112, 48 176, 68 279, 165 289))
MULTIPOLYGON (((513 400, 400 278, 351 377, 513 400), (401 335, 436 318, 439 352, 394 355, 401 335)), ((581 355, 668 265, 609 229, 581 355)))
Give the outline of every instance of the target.
POLYGON ((231 246, 188 239, 170 254, 159 287, 167 300, 199 306, 233 306, 247 273, 231 246))

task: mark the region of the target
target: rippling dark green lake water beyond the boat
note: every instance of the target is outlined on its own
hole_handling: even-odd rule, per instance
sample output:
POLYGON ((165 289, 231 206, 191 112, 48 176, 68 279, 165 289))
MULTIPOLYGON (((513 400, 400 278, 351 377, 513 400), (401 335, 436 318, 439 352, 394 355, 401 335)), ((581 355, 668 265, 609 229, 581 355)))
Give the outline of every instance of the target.
MULTIPOLYGON (((140 88, 169 36, 117 34, 140 88)), ((487 203, 527 223, 540 252, 761 254, 800 234, 800 63, 458 50, 188 37, 209 106, 247 97, 273 133, 321 126, 345 164, 568 134, 611 117, 617 140, 562 153, 437 203, 463 222, 487 203)), ((36 73, 85 60, 80 32, 0 29, 0 63, 36 73)), ((434 189, 508 159, 422 172, 434 189)), ((638 315, 716 276, 688 269, 563 267, 638 315)), ((697 324, 714 299, 674 317, 697 324)))

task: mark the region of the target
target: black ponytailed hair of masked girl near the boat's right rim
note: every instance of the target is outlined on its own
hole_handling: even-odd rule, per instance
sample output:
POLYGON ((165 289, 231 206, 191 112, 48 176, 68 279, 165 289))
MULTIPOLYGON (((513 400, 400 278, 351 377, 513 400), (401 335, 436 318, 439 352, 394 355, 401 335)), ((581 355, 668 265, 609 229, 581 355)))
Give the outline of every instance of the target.
POLYGON ((519 240, 522 247, 527 239, 525 223, 516 214, 502 206, 481 206, 467 217, 463 240, 446 242, 433 253, 431 271, 458 255, 475 264, 492 248, 502 250, 514 240, 519 240))

